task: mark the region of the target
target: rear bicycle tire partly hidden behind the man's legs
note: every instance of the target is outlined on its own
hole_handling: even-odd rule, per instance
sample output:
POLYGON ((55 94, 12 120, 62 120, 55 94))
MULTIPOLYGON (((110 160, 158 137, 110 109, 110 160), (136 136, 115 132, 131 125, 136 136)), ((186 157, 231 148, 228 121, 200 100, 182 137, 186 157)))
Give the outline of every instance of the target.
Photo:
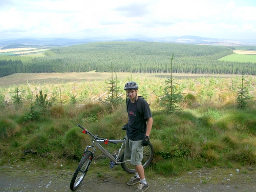
MULTIPOLYGON (((151 163, 153 157, 154 157, 154 147, 150 143, 148 144, 148 146, 143 147, 143 159, 141 161, 143 168, 146 168, 151 163)), ((124 161, 124 152, 121 156, 121 161, 124 161)), ((135 173, 135 167, 130 162, 122 163, 121 166, 123 170, 125 170, 125 172, 130 174, 135 173)))

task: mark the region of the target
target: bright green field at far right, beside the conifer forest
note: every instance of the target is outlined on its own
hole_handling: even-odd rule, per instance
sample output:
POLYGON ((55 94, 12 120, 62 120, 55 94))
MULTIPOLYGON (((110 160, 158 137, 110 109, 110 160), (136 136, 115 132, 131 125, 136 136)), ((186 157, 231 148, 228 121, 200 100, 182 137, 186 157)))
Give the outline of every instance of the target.
POLYGON ((256 55, 242 55, 242 54, 231 54, 220 58, 221 61, 231 61, 231 62, 255 62, 256 55))

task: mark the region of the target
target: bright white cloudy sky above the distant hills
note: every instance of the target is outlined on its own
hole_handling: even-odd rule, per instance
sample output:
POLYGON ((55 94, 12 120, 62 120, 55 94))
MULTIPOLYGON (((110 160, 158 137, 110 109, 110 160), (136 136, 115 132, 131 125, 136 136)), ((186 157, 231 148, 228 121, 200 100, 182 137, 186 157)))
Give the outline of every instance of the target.
POLYGON ((256 39, 255 0, 1 0, 0 39, 256 39))

